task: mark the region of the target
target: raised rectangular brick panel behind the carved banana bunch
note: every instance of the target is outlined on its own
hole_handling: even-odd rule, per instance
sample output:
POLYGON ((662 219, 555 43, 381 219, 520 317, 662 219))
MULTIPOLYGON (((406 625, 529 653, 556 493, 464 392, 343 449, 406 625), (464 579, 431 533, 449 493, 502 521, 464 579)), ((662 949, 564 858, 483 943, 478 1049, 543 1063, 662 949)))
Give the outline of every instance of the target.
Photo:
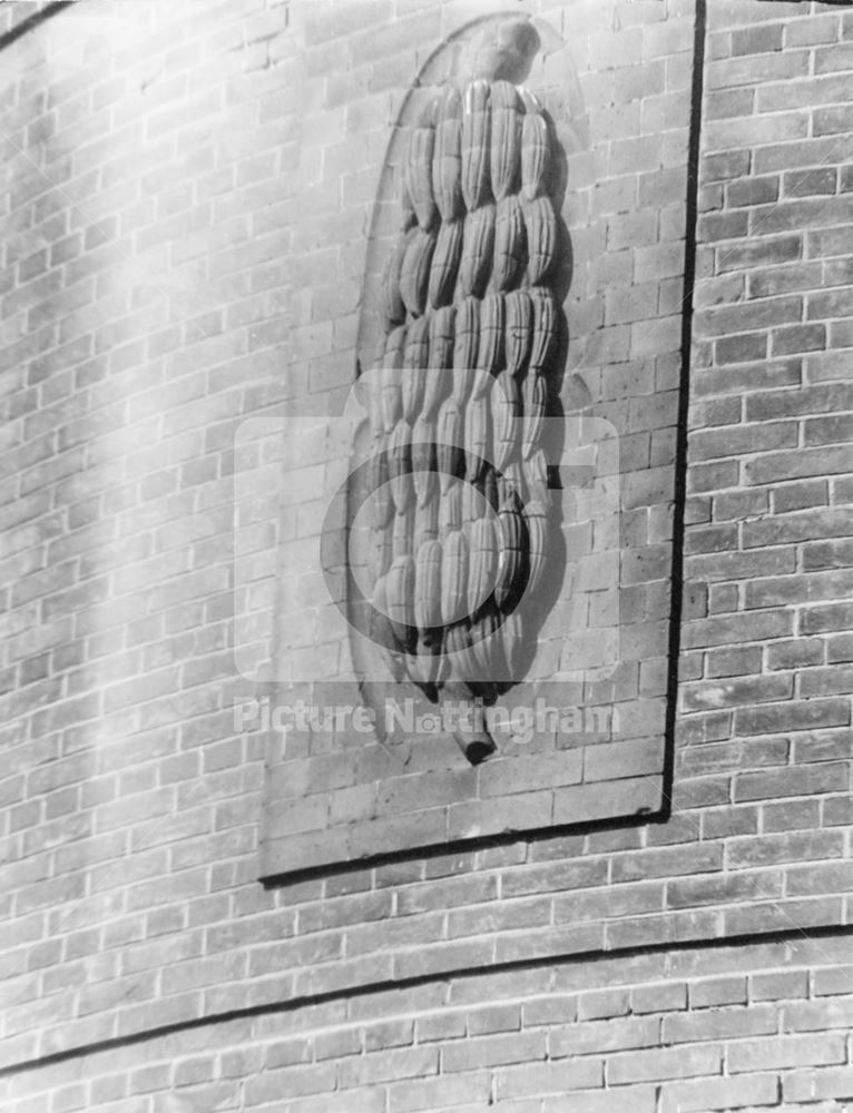
MULTIPOLYGON (((330 79, 318 60, 320 43, 337 41, 339 8, 325 20, 308 18, 312 11, 304 9, 306 24, 300 28, 307 43, 302 126, 311 137, 301 173, 310 186, 293 265, 306 284, 300 319, 324 346, 302 351, 291 371, 306 384, 305 410, 327 422, 326 415, 345 408, 355 359, 364 377, 381 361, 378 287, 399 233, 409 128, 430 89, 482 33, 482 21, 465 27, 461 16, 490 8, 445 9, 442 18, 437 7, 426 12, 429 32, 412 33, 405 20, 395 24, 393 39, 380 40, 381 57, 393 50, 409 69, 395 68, 396 85, 384 98, 371 95, 376 43, 367 32, 351 37, 343 57, 347 82, 360 96, 347 102, 345 117, 330 116, 330 79), (419 49, 428 33, 429 49, 419 49), (350 127, 353 118, 357 131, 350 127), (346 135, 339 135, 344 125, 346 135), (316 159, 314 145, 322 155, 316 159), (357 193, 351 188, 356 176, 357 193), (316 284, 317 260, 326 275, 332 268, 346 276, 331 287, 334 296, 316 284), (356 306, 357 314, 345 312, 356 306), (346 358, 333 339, 354 319, 355 351, 351 335, 346 358)), ((343 681, 360 669, 369 681, 363 687, 375 693, 379 727, 361 733, 349 722, 336 730, 294 727, 272 739, 265 876, 666 810, 693 4, 595 0, 556 10, 531 3, 526 11, 535 17, 539 40, 526 82, 552 120, 555 204, 566 226, 562 254, 571 255, 555 279, 567 318, 567 352, 555 361, 552 375, 561 381, 565 421, 558 418, 559 432, 543 434, 561 445, 549 456, 561 476, 561 490, 553 484, 548 494, 549 544, 566 556, 561 568, 555 555, 546 573, 543 593, 552 605, 541 619, 537 654, 496 711, 506 713, 504 722, 516 708, 577 715, 567 715, 568 727, 560 727, 556 712, 540 713, 529 737, 519 738, 511 726, 496 731, 498 752, 480 770, 468 768, 447 730, 437 737, 393 729, 388 701, 395 708, 411 701, 415 716, 437 706, 414 684, 391 683, 375 646, 347 629, 317 574, 327 536, 323 515, 354 466, 356 421, 352 427, 333 423, 332 432, 317 423, 308 436, 295 417, 285 418, 298 459, 288 473, 282 523, 288 574, 276 624, 276 676, 287 688, 278 702, 359 705, 363 696, 343 681), (586 476, 585 486, 577 474, 586 476), (300 500, 307 491, 305 506, 300 500)), ((463 86, 469 78, 457 65, 453 82, 463 86)), ((532 609, 527 600, 518 609, 528 629, 531 620, 540 621, 532 609)), ((440 709, 442 696, 439 701, 440 709)))

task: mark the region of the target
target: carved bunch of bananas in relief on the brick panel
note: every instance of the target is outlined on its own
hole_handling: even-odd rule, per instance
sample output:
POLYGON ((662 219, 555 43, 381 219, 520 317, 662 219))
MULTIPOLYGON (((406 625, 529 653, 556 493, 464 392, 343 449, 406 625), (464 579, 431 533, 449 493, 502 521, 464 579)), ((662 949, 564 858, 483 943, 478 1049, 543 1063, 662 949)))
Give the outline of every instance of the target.
MULTIPOLYGON (((388 486, 374 486, 371 633, 392 674, 433 700, 465 686, 488 702, 511 686, 536 638, 518 603, 548 561, 553 140, 535 93, 504 77, 529 35, 499 23, 472 79, 437 89, 409 128, 382 277, 371 483, 388 486)), ((472 761, 493 749, 488 736, 460 743, 472 761)))

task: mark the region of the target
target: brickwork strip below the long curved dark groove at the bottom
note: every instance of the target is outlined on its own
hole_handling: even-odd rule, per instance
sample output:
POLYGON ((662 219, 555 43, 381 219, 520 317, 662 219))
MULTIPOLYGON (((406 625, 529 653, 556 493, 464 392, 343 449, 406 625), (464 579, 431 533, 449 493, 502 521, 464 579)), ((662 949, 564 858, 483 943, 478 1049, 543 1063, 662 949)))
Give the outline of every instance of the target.
POLYGON ((0 1080, 8 1113, 840 1113, 846 938, 686 949, 224 1020, 0 1080), (837 1099, 837 1100, 836 1100, 837 1099))

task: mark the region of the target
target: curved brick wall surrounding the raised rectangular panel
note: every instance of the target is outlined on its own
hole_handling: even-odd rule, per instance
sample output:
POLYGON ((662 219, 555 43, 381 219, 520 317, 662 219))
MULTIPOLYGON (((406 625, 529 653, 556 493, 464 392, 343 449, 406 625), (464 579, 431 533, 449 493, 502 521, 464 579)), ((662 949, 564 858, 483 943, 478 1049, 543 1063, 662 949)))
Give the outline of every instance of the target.
MULTIPOLYGON (((627 90, 636 146, 689 96, 693 4, 616 7, 536 11, 600 38, 587 104, 627 90)), ((388 128, 487 10, 82 2, 4 46, 13 1113, 853 1093, 846 6, 709 4, 671 817, 257 881, 266 739, 235 730, 232 647, 274 633, 281 461, 241 421, 346 388, 388 128)), ((667 266, 650 173, 608 194, 612 274, 667 266)))

